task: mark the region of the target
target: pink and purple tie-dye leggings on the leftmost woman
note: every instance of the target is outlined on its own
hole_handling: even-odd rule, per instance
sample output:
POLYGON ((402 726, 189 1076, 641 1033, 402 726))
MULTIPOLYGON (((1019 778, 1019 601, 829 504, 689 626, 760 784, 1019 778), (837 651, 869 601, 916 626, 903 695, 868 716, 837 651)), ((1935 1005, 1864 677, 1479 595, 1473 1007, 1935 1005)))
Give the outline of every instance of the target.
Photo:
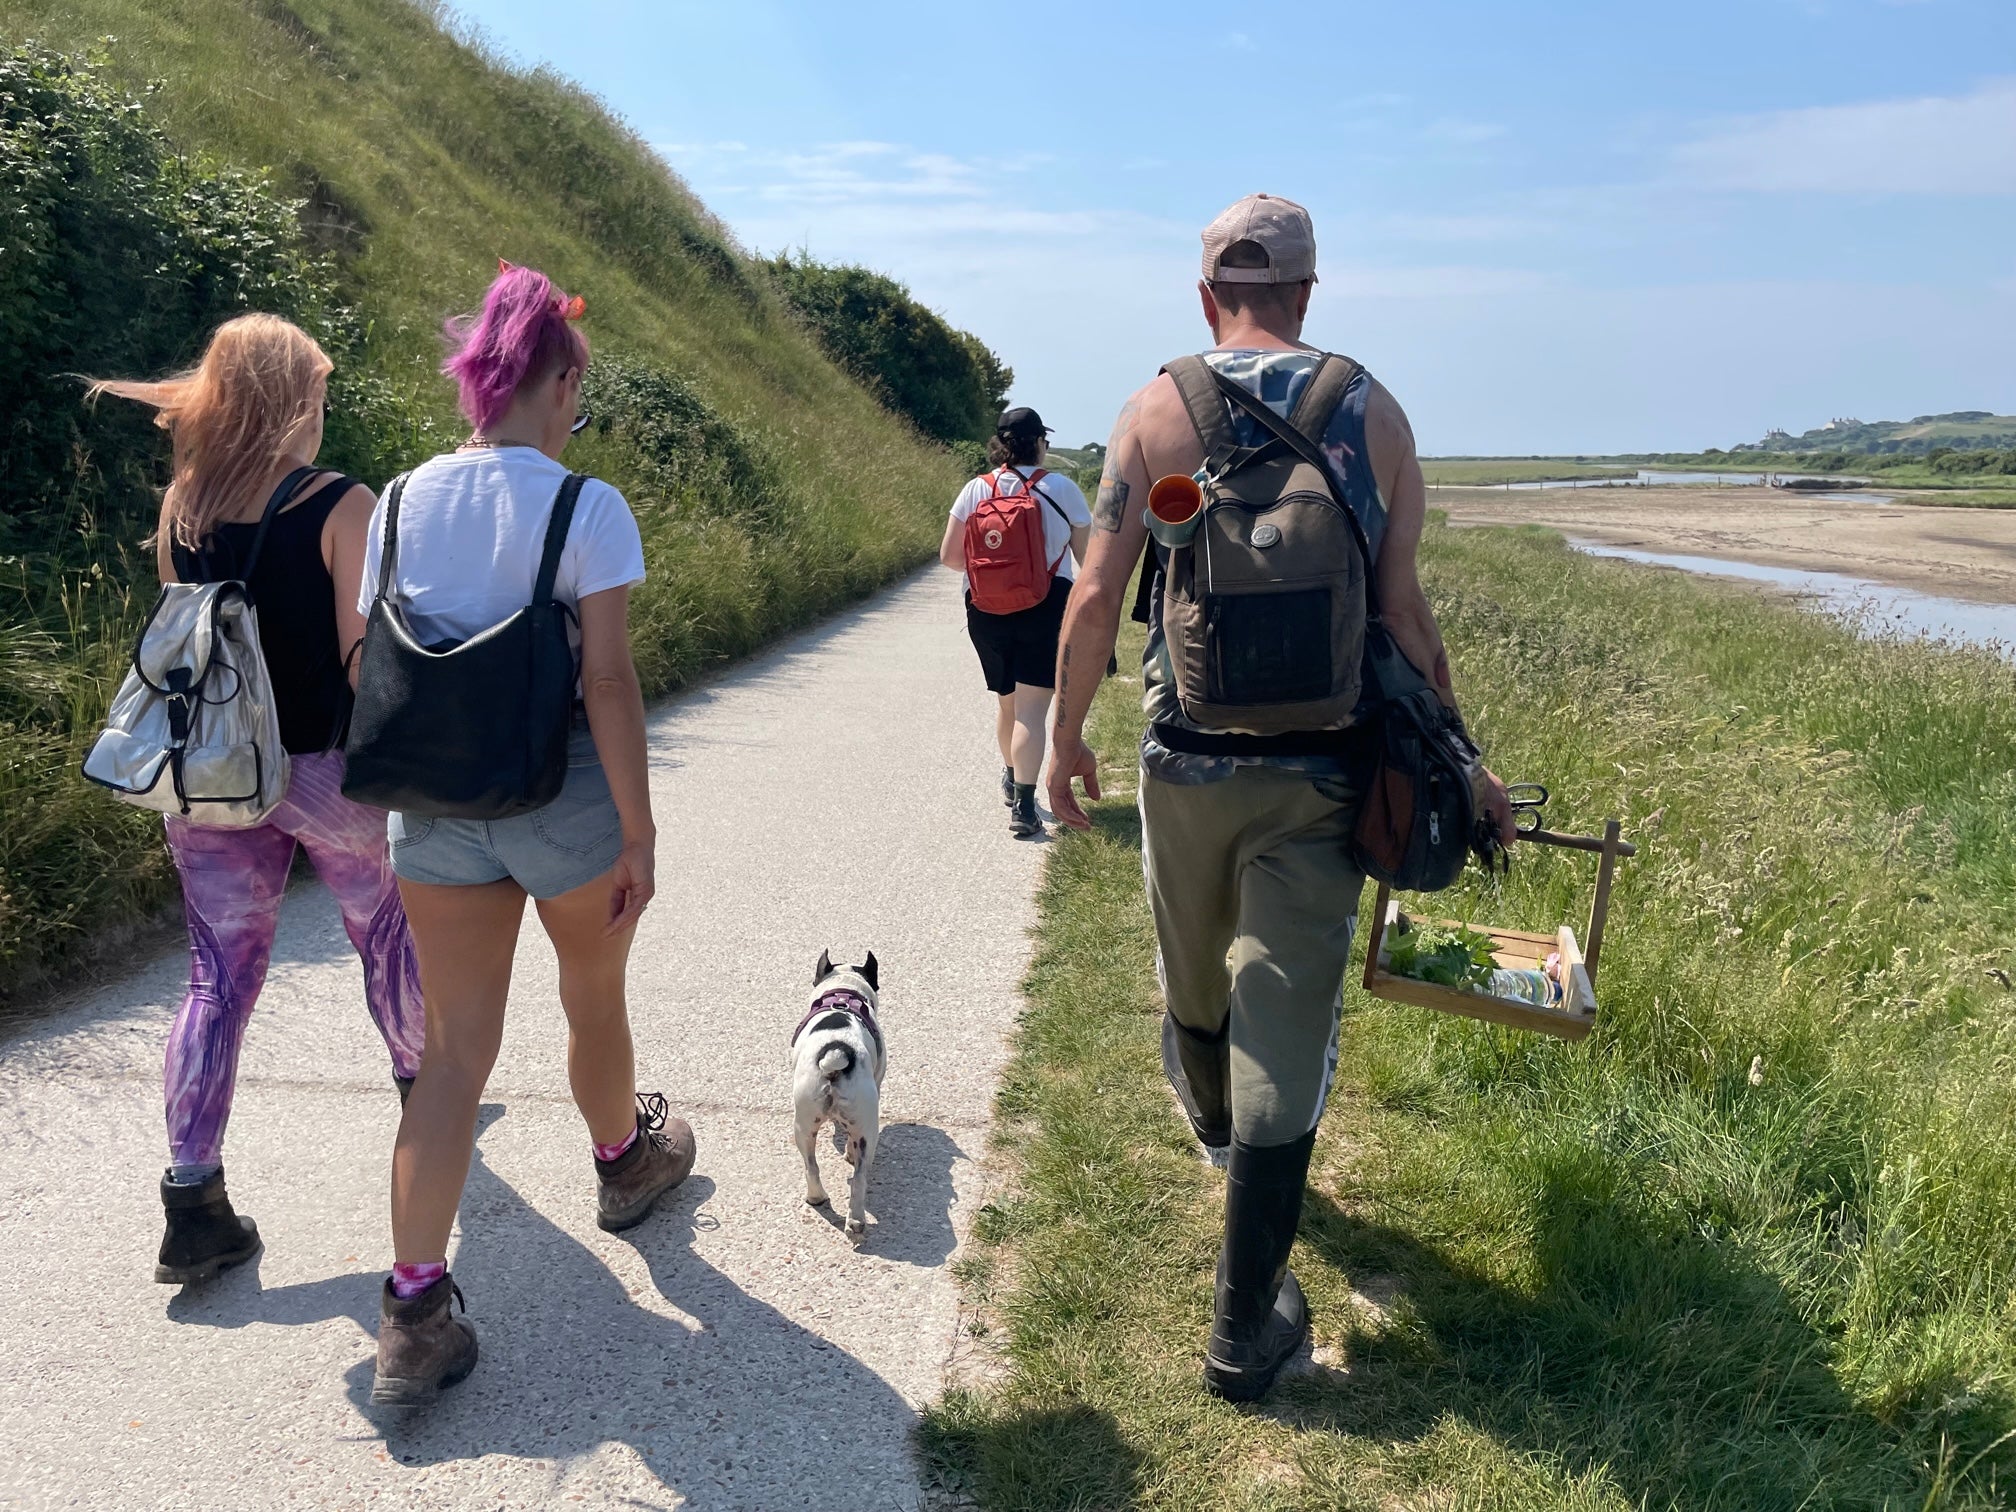
POLYGON ((419 966, 385 849, 385 814, 343 796, 341 752, 294 756, 292 768, 286 798, 258 829, 167 821, 190 921, 190 996, 167 1036, 163 1079, 175 1165, 222 1157, 238 1046, 272 960, 296 843, 337 895, 343 927, 365 962, 365 1004, 391 1050, 393 1075, 419 1068, 419 966))

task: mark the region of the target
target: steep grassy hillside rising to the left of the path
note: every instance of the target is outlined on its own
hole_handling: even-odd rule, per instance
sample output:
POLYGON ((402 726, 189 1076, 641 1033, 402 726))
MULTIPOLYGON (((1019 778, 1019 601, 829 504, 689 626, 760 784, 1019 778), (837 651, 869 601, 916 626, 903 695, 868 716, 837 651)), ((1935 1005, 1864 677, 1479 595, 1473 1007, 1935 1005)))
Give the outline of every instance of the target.
MULTIPOLYGON (((73 52, 113 38, 107 71, 161 83, 149 115, 185 151, 312 194, 308 218, 369 321, 365 359, 439 435, 456 423, 439 323, 480 296, 498 256, 585 294, 599 351, 675 367, 740 427, 794 506, 788 534, 631 488, 651 564, 635 609, 651 691, 931 554, 958 466, 835 369, 683 185, 564 81, 500 67, 407 0, 0 0, 0 32, 73 52), (669 238, 635 234, 667 220, 669 238)), ((569 460, 627 482, 609 444, 569 460)), ((0 859, 14 869, 12 911, 0 869, 0 994, 171 895, 157 821, 69 774, 151 597, 121 603, 121 587, 73 595, 71 732, 0 756, 0 859)))

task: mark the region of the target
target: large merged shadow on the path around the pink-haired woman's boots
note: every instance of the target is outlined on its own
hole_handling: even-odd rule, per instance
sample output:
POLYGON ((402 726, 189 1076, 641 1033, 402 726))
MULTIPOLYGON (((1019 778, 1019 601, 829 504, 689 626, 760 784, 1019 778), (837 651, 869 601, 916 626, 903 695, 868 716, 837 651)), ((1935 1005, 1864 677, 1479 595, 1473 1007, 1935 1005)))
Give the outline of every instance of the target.
MULTIPOLYGON (((484 1105, 478 1139, 498 1117, 500 1105, 484 1105)), ((714 1181, 696 1173, 625 1236, 659 1296, 683 1314, 667 1318, 637 1306, 599 1256, 490 1169, 478 1145, 456 1252, 456 1280, 476 1304, 476 1373, 431 1407, 377 1409, 365 1351, 347 1373, 351 1401, 407 1466, 564 1462, 625 1443, 696 1512, 899 1506, 891 1472, 909 1474, 913 1409, 857 1359, 691 1252, 696 1230, 712 1224, 698 1212, 710 1195, 714 1181)), ((351 1316, 369 1341, 381 1284, 379 1274, 347 1274, 177 1302, 190 1320, 220 1327, 351 1316)))

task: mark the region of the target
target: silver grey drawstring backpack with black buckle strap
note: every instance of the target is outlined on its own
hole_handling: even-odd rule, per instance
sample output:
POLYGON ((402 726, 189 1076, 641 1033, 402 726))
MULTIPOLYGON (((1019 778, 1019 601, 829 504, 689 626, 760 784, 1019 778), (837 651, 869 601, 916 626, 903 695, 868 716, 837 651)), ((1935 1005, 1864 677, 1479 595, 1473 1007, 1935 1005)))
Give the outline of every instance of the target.
MULTIPOLYGON (((310 474, 288 474, 274 490, 246 577, 272 516, 310 474)), ((85 778, 141 808, 228 829, 264 823, 286 796, 280 712, 242 581, 161 587, 85 778)))

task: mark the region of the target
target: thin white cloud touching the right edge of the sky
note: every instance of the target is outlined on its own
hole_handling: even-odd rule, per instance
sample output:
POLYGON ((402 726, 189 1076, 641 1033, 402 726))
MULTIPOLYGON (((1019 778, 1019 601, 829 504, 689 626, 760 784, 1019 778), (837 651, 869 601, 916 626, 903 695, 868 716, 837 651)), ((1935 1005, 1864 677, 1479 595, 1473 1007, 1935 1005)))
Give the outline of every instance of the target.
POLYGON ((1677 147, 1673 169, 1708 190, 2016 194, 2016 77, 1746 117, 1677 147))

